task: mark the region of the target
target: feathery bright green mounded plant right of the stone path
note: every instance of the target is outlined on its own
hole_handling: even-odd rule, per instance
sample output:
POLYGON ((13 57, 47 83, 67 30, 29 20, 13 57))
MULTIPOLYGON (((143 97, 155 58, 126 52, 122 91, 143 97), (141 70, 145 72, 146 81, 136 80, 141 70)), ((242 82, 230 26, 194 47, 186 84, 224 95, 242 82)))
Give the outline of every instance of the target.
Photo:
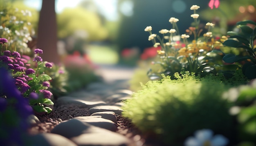
POLYGON ((157 135, 167 145, 183 145, 194 131, 209 128, 234 139, 233 117, 222 93, 230 87, 220 76, 200 78, 193 73, 175 73, 177 80, 163 76, 149 81, 124 102, 124 117, 142 132, 157 135))

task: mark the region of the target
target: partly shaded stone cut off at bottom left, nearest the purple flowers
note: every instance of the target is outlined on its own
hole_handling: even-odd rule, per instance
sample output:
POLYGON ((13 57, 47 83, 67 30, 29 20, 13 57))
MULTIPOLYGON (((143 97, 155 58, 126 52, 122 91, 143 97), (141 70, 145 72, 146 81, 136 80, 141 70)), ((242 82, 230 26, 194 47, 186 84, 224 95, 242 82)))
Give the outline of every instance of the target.
POLYGON ((40 133, 28 137, 31 146, 77 146, 66 137, 54 133, 40 133))

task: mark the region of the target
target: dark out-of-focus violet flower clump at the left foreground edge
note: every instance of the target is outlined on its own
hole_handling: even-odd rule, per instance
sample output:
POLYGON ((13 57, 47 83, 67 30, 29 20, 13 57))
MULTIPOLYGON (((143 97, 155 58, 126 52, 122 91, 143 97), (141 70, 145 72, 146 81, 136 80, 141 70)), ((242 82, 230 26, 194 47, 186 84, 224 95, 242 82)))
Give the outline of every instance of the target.
POLYGON ((7 69, 0 68, 0 137, 1 145, 26 145, 23 141, 24 131, 27 131, 27 118, 33 114, 28 99, 22 97, 15 86, 15 80, 7 69), (9 115, 11 112, 11 116, 9 115), (11 117, 11 118, 10 118, 11 117), (13 117, 16 121, 13 122, 13 117), (2 133, 3 132, 3 133, 2 133))

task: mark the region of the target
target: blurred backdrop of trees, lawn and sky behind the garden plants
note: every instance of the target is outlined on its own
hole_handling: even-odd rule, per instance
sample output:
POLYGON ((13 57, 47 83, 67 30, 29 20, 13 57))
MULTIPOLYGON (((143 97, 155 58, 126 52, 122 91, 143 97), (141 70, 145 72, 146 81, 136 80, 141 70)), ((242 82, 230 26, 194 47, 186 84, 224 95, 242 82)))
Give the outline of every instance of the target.
MULTIPOLYGON (((8 2, 19 10, 31 11, 28 21, 34 27, 33 38, 36 40, 42 0, 0 0, 1 5, 8 2)), ((189 9, 193 4, 200 6, 198 13, 201 23, 216 23, 216 31, 223 35, 234 28, 235 22, 256 18, 255 0, 220 0, 218 9, 211 9, 209 0, 79 0, 75 7, 64 7, 63 3, 70 3, 65 0, 55 2, 58 40, 61 42, 58 46, 62 48, 59 53, 82 50, 93 56, 92 61, 95 63, 135 62, 135 65, 134 60, 139 59, 140 53, 152 46, 152 42, 148 41, 148 33, 144 31, 145 27, 152 26, 154 33, 171 29, 168 20, 175 17, 180 20, 180 33, 184 33, 193 22, 190 17, 193 12, 189 9), (63 9, 57 11, 60 5, 63 5, 63 9), (110 12, 112 16, 108 15, 110 12), (105 50, 95 49, 96 46, 105 50), (126 52, 123 52, 124 49, 126 52), (97 58, 97 55, 100 57, 97 58), (102 60, 102 56, 106 60, 102 60), (113 61, 113 58, 117 59, 113 61)))

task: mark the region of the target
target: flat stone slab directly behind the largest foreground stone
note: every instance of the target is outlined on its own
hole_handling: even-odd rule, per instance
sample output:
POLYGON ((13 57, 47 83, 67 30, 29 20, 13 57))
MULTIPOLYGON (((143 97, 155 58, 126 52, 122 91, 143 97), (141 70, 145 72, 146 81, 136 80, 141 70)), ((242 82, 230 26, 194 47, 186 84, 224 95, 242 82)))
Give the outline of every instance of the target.
POLYGON ((109 119, 101 118, 100 115, 74 117, 73 119, 78 119, 81 122, 86 122, 99 128, 104 128, 110 131, 117 131, 117 124, 109 119))

